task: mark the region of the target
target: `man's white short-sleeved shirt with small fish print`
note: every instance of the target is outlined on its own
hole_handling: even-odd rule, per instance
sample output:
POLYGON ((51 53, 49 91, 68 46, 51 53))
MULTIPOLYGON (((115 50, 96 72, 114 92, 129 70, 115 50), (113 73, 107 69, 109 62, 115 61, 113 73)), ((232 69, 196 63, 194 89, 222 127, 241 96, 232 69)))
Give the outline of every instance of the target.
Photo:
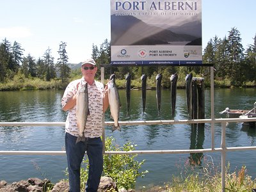
MULTIPOLYGON (((85 84, 84 77, 68 84, 61 99, 62 108, 67 104, 68 99, 77 93, 77 83, 85 84)), ((104 86, 99 81, 94 81, 92 85, 88 84, 89 111, 84 129, 86 138, 97 138, 102 136, 102 116, 103 116, 103 94, 104 86)), ((68 116, 65 124, 65 131, 78 136, 76 105, 68 110, 68 116)))

